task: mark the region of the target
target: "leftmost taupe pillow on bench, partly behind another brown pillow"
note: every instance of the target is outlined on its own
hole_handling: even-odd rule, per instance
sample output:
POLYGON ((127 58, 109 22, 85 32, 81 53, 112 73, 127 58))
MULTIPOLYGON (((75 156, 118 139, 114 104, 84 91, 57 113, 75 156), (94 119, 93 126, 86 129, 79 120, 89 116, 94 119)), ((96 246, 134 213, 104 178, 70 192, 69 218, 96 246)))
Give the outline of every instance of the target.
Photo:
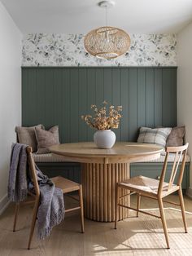
POLYGON ((37 151, 37 139, 35 135, 35 128, 45 129, 42 125, 31 126, 31 127, 23 127, 16 126, 15 132, 17 134, 17 140, 21 144, 26 144, 32 147, 33 152, 37 151))

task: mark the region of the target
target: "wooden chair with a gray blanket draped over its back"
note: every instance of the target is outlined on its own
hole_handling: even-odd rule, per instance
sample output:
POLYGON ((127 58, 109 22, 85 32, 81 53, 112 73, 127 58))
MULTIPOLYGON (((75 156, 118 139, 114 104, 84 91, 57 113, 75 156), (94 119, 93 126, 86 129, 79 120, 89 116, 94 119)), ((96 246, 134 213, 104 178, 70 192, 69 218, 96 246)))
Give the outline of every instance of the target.
MULTIPOLYGON (((32 218, 32 223, 31 223, 30 235, 29 235, 29 239, 28 239, 28 249, 30 249, 31 241, 32 241, 32 238, 33 238, 33 232, 34 232, 34 228, 35 228, 35 223, 36 223, 36 219, 37 219, 37 210, 38 210, 38 205, 39 205, 39 201, 40 201, 40 190, 39 190, 39 186, 38 186, 38 183, 37 183, 37 174, 36 174, 35 162, 34 162, 33 154, 32 154, 32 148, 30 148, 30 147, 27 148, 27 154, 28 154, 28 164, 29 164, 30 171, 31 171, 31 174, 32 174, 32 179, 33 179, 34 189, 35 189, 35 194, 33 194, 32 192, 28 192, 28 194, 33 197, 33 201, 32 200, 29 200, 29 201, 27 200, 27 201, 23 202, 24 204, 32 203, 32 202, 34 203, 33 218, 32 218)), ((80 205, 77 206, 77 207, 73 207, 71 209, 65 210, 65 213, 67 213, 69 211, 72 211, 72 210, 79 210, 80 209, 80 213, 81 213, 81 232, 84 233, 83 196, 82 196, 82 186, 81 186, 81 184, 75 183, 75 182, 73 182, 71 180, 68 180, 68 179, 64 179, 61 176, 54 177, 51 180, 55 183, 55 187, 61 188, 63 190, 63 194, 68 193, 68 192, 78 191, 80 205)), ((73 197, 73 196, 71 196, 71 197, 73 197)), ((75 197, 73 197, 73 199, 76 200, 75 197)), ((15 205, 15 218, 14 218, 14 225, 13 225, 13 231, 14 232, 15 232, 17 216, 18 216, 18 213, 19 213, 21 203, 17 203, 15 205)))

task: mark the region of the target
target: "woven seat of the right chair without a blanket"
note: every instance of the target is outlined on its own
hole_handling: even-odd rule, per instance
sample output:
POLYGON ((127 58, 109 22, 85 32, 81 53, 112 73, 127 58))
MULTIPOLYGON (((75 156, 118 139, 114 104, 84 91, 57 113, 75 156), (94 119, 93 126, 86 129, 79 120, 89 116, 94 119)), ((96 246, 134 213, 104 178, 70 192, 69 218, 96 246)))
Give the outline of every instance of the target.
MULTIPOLYGON (((124 180, 119 183, 120 187, 128 188, 131 191, 151 193, 155 197, 157 196, 159 180, 151 179, 142 175, 133 177, 131 179, 124 180)), ((168 190, 168 183, 164 182, 163 196, 169 194, 169 192, 176 191, 177 185, 173 184, 172 188, 168 190)))

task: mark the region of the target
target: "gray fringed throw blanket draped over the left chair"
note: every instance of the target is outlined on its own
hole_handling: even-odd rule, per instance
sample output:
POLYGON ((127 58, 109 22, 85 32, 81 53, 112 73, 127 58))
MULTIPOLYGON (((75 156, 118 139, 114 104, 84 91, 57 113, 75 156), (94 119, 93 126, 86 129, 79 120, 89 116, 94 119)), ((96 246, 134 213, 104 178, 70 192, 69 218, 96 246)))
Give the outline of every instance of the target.
MULTIPOLYGON (((11 150, 11 166, 8 183, 8 195, 11 201, 24 201, 28 190, 34 192, 27 164, 27 145, 13 143, 11 150)), ((63 191, 55 188, 55 184, 36 166, 37 181, 40 189, 40 203, 37 211, 37 236, 45 239, 50 236, 53 227, 64 218, 63 191)))

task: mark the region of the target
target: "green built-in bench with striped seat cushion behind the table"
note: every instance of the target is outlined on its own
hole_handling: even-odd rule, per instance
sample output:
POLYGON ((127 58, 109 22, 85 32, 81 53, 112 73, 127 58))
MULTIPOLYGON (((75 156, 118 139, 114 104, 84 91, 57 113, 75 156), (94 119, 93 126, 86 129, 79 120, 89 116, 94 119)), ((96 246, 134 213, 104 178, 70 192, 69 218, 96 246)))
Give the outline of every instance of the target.
MULTIPOLYGON (((63 177, 72 179, 76 182, 81 181, 81 164, 75 162, 64 161, 64 157, 48 154, 33 154, 37 166, 48 176, 63 175, 63 177)), ((130 165, 131 177, 138 174, 159 179, 161 170, 164 165, 165 155, 162 154, 158 159, 132 163, 130 165)), ((172 169, 174 154, 169 154, 168 171, 172 169)), ((168 175, 168 172, 167 172, 168 175)), ((165 177, 166 179, 166 177, 165 177)), ((176 178, 177 179, 177 178, 176 178)), ((182 188, 189 188, 190 183, 190 156, 186 157, 185 172, 183 176, 182 188)))

